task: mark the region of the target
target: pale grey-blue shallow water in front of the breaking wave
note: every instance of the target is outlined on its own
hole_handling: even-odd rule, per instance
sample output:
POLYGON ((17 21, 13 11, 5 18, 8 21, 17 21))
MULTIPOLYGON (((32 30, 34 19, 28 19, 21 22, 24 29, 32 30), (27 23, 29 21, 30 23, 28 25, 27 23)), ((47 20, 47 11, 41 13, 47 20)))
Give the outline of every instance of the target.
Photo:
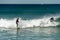
POLYGON ((0 40, 60 40, 60 28, 0 28, 0 40))

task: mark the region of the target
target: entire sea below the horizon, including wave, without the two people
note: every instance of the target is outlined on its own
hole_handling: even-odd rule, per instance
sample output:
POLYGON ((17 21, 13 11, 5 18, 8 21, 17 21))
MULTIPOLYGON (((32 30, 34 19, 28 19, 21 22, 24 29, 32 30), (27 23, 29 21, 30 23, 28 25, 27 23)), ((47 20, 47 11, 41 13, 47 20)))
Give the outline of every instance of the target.
POLYGON ((60 4, 0 4, 0 40, 60 40, 60 4))

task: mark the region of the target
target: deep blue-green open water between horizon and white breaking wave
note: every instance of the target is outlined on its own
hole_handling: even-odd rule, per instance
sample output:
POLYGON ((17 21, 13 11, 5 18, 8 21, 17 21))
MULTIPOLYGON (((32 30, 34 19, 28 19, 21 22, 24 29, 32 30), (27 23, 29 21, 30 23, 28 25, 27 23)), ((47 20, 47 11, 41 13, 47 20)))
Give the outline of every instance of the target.
POLYGON ((0 18, 33 19, 59 14, 60 4, 0 4, 0 18))

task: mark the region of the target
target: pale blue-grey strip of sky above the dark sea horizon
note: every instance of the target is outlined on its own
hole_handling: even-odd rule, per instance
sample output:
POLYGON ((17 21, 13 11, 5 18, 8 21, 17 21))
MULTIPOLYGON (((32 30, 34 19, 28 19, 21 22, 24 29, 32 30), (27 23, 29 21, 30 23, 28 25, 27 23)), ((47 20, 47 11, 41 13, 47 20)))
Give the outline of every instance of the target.
POLYGON ((0 0, 0 4, 60 4, 60 0, 0 0))

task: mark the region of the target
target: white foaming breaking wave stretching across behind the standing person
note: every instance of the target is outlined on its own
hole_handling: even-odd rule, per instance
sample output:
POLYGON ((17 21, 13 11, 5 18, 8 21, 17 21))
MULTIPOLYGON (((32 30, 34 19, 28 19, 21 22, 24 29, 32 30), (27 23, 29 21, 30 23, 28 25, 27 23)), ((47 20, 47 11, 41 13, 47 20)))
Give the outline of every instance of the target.
MULTIPOLYGON (((26 27, 55 27, 60 24, 58 22, 59 17, 54 17, 55 21, 50 22, 51 17, 43 17, 39 19, 31 19, 31 20, 23 20, 19 18, 19 27, 20 28, 26 28, 26 27)), ((0 27, 5 28, 16 28, 16 18, 13 19, 0 19, 0 27)))

